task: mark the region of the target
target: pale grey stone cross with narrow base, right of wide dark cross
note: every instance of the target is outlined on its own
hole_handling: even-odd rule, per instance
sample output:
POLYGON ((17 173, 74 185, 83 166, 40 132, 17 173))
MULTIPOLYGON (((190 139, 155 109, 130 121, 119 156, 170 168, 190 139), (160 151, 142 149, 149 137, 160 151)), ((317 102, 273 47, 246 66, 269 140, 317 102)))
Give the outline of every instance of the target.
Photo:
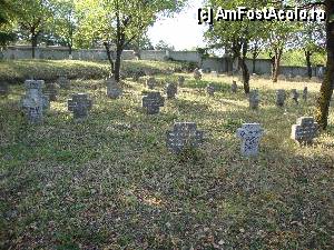
POLYGON ((237 129, 236 136, 243 140, 240 147, 243 156, 250 157, 258 153, 258 144, 263 131, 259 123, 244 123, 242 128, 237 129))

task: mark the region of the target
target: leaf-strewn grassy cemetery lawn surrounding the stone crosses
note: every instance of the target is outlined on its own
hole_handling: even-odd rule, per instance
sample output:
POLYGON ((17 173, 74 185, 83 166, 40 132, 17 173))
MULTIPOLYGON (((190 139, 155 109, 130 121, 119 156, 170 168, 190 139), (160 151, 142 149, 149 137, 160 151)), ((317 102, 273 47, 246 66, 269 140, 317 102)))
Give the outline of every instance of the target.
POLYGON ((313 114, 320 84, 305 83, 307 103, 279 109, 275 89, 305 84, 250 80, 261 93, 252 111, 240 89, 230 93, 232 78, 183 76, 178 98, 157 116, 140 108, 147 89, 130 78, 118 100, 102 80, 72 81, 41 126, 27 123, 23 86, 11 86, 0 99, 0 248, 333 249, 334 109, 313 146, 289 139, 296 118, 313 114), (214 98, 208 82, 219 88, 214 98), (79 91, 94 108, 76 123, 67 99, 79 91), (199 150, 168 151, 175 121, 206 132, 199 150), (239 153, 243 122, 265 129, 257 158, 239 153))

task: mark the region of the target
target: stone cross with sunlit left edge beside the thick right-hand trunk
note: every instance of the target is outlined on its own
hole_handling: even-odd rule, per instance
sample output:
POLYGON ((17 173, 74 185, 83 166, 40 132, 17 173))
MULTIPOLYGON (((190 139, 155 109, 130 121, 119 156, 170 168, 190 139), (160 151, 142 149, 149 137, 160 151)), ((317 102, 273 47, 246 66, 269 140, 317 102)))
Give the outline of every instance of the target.
POLYGON ((313 117, 301 117, 296 124, 292 126, 291 138, 301 144, 312 143, 317 136, 318 128, 313 117))

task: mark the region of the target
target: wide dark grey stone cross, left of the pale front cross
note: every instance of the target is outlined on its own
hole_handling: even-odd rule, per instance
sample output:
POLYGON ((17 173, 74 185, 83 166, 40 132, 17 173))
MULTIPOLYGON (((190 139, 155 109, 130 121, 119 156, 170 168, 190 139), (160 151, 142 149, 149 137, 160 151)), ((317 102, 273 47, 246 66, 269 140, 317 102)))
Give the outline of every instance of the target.
POLYGON ((167 148, 175 153, 181 152, 187 147, 197 148, 204 141, 204 132, 197 130, 195 122, 176 122, 166 136, 167 148))

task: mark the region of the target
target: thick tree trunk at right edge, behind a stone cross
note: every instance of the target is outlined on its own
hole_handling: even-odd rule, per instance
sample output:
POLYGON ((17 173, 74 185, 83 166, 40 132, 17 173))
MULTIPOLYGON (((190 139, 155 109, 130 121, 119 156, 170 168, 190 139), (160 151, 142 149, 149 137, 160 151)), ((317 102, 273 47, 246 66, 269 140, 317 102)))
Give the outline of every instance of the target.
POLYGON ((334 88, 334 22, 331 17, 334 14, 334 1, 325 1, 326 10, 326 50, 327 50, 327 64, 326 73, 321 86, 320 97, 317 99, 317 107, 315 119, 322 129, 327 128, 330 102, 334 88))

